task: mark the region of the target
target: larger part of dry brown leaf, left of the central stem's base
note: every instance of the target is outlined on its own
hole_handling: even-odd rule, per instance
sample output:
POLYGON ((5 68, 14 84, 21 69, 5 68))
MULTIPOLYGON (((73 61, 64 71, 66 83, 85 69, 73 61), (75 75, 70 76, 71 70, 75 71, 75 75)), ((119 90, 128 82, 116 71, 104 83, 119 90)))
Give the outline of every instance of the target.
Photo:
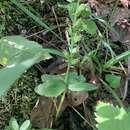
POLYGON ((31 112, 32 125, 35 128, 51 128, 55 107, 51 98, 39 97, 35 107, 31 112))

